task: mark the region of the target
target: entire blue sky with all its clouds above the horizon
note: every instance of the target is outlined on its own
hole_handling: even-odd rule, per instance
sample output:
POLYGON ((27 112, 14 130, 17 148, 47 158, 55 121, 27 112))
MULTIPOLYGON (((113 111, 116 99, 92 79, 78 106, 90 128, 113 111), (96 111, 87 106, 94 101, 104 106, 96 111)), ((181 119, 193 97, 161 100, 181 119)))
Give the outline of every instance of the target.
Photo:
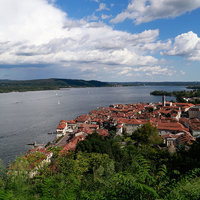
POLYGON ((0 0, 0 79, 200 81, 200 0, 0 0))

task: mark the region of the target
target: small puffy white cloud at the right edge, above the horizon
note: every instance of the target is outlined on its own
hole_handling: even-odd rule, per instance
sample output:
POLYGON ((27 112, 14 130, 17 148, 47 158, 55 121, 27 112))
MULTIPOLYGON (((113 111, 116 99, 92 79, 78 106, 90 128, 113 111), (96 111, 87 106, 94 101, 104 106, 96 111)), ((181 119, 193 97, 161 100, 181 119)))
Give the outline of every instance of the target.
POLYGON ((192 31, 178 35, 172 47, 164 54, 200 61, 200 38, 192 31))

